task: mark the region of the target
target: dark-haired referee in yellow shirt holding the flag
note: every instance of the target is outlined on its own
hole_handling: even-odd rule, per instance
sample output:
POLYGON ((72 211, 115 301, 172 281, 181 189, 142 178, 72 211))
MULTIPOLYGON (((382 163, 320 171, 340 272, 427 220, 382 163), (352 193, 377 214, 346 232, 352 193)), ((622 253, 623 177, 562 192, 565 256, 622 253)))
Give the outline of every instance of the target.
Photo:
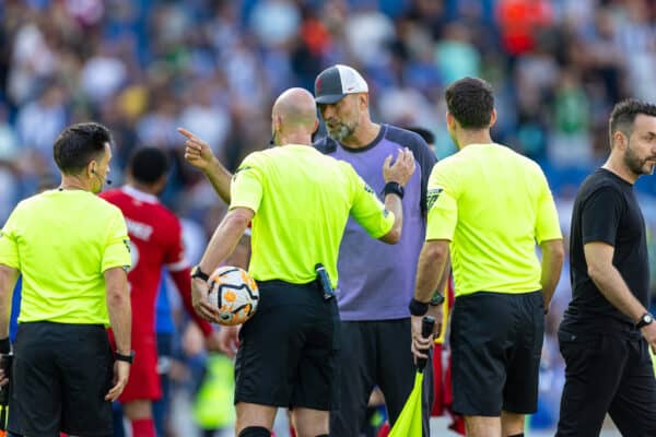
POLYGON ((558 213, 538 164, 492 142, 496 110, 487 82, 453 83, 446 104, 459 152, 429 179, 426 243, 410 303, 413 352, 422 356, 430 345, 420 316, 450 252, 453 410, 465 415, 468 436, 518 437, 524 415, 537 409, 543 315, 563 262, 558 213))

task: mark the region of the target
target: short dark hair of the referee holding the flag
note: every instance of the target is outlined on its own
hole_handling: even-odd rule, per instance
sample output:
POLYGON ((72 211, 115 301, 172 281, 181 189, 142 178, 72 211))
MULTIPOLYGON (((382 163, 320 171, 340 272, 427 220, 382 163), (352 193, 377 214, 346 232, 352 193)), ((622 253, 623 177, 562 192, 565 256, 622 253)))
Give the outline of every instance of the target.
POLYGON ((478 78, 460 79, 446 88, 445 97, 448 111, 464 129, 490 127, 494 92, 488 82, 478 78))

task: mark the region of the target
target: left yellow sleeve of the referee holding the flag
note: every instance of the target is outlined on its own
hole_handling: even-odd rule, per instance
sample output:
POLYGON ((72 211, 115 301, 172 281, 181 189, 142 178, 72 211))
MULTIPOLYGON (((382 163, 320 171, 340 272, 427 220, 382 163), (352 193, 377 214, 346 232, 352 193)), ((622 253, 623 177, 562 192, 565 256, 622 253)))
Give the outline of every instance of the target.
POLYGON ((457 182, 445 163, 437 163, 429 178, 426 240, 453 240, 458 223, 457 182))

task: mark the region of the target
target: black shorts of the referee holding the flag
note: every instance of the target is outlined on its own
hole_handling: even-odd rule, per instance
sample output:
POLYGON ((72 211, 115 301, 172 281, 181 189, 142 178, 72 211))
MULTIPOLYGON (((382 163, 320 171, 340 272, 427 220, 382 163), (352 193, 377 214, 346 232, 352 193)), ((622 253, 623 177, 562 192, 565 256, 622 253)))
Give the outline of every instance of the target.
POLYGON ((453 410, 470 416, 534 413, 543 334, 541 292, 457 297, 450 333, 453 410))

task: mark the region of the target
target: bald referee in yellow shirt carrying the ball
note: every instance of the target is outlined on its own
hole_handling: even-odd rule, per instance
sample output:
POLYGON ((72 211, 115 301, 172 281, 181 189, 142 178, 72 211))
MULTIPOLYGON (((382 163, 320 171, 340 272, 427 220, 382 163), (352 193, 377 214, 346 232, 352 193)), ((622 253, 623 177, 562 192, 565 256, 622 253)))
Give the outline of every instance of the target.
MULTIPOLYGON (((336 299, 325 298, 318 285, 315 265, 324 264, 335 288, 349 215, 373 238, 398 241, 402 187, 414 172, 414 158, 400 150, 394 165, 391 155, 384 163, 384 205, 350 164, 312 146, 318 126, 312 94, 285 91, 271 119, 273 141, 282 146, 248 155, 235 173, 230 212, 192 274, 200 277, 192 282, 195 307, 219 321, 202 279, 230 256, 253 221, 249 272, 261 300, 238 334, 236 435, 269 437, 277 409, 290 406, 298 436, 328 436, 338 389, 339 315, 336 299)), ((225 347, 236 344, 235 328, 222 328, 222 335, 225 347)))

